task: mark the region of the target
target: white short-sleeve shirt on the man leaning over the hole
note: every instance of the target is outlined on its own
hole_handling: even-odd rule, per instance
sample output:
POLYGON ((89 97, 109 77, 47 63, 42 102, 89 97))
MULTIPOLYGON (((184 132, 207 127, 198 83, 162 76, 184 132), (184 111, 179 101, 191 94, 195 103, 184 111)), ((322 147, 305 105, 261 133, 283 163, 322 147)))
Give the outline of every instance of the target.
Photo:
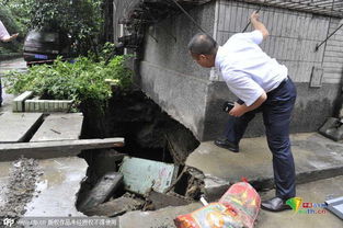
POLYGON ((228 88, 247 106, 253 104, 263 93, 270 92, 287 78, 288 70, 266 55, 259 44, 262 32, 232 35, 218 48, 216 67, 220 70, 228 88))

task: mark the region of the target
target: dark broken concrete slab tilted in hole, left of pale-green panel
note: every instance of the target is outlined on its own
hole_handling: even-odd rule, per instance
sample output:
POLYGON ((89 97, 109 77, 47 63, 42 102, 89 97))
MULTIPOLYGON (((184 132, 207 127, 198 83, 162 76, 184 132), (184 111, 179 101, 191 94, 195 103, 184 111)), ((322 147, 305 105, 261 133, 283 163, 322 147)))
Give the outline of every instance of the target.
POLYGON ((79 205, 79 210, 88 210, 107 201, 112 194, 123 184, 123 174, 108 172, 88 193, 79 205))

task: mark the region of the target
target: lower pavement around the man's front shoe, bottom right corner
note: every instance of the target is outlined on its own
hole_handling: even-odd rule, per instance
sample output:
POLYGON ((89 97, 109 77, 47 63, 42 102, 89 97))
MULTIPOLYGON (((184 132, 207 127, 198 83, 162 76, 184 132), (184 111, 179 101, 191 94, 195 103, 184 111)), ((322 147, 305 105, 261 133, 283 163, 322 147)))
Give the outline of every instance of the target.
MULTIPOLYGON (((342 196, 342 175, 307 184, 299 184, 297 187, 297 196, 301 197, 304 203, 322 204, 327 198, 342 196)), ((265 194, 262 194, 262 200, 266 200, 273 196, 274 191, 270 191, 265 194)), ((299 210, 301 210, 301 213, 295 213, 293 210, 270 213, 261 210, 255 228, 343 227, 343 220, 334 216, 329 210, 319 207, 304 208, 302 206, 300 206, 299 210)))

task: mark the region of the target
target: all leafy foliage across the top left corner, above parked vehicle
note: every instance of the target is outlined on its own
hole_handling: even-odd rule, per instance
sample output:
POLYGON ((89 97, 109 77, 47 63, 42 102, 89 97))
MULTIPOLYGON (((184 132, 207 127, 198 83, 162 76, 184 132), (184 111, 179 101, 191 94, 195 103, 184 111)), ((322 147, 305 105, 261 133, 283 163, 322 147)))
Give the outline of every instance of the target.
MULTIPOLYGON (((94 49, 103 24, 103 0, 0 0, 24 30, 69 34, 76 53, 94 49)), ((0 4, 1 5, 1 4, 0 4)))

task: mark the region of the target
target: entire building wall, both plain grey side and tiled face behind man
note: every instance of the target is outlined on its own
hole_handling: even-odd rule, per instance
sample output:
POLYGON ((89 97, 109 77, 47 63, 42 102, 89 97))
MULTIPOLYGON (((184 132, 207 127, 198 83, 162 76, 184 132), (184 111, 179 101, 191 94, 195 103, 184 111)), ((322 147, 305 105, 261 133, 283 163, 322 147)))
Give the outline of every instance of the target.
MULTIPOLYGON (((241 32, 254 4, 218 0, 191 11, 196 21, 221 45, 241 32)), ((331 116, 341 93, 343 32, 315 52, 340 24, 340 20, 306 12, 264 7, 261 21, 271 36, 261 47, 287 66, 298 90, 291 132, 317 130, 331 116), (320 88, 310 88, 312 68, 323 69, 320 88)), ((251 30, 251 29, 249 29, 251 30)), ((141 62, 141 87, 173 118, 188 127, 199 140, 218 137, 228 115, 221 112, 226 100, 236 100, 218 73, 198 67, 186 45, 198 30, 183 14, 174 15, 147 33, 141 62), (174 39, 176 38, 176 41, 174 39)), ((247 137, 264 134, 261 116, 250 124, 247 137)))

